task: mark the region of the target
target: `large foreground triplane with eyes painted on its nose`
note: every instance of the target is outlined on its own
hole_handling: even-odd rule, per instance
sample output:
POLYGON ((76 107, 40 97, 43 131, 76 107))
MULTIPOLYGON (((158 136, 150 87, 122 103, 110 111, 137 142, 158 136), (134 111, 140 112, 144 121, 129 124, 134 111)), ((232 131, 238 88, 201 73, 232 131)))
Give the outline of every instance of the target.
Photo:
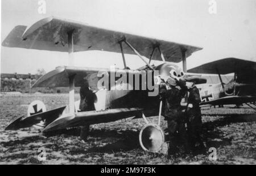
MULTIPOLYGON (((160 127, 161 106, 159 96, 148 96, 154 90, 143 89, 143 84, 150 84, 158 89, 159 78, 173 76, 183 77, 188 81, 205 83, 201 76, 185 75, 187 71, 186 58, 202 48, 178 44, 171 41, 158 40, 151 37, 137 36, 130 33, 117 32, 98 28, 88 24, 73 22, 59 18, 46 18, 26 27, 16 26, 2 43, 3 46, 60 51, 69 54, 69 66, 57 67, 36 81, 32 87, 69 87, 69 106, 28 114, 20 117, 6 127, 6 130, 18 130, 31 127, 41 121, 45 122, 43 132, 51 132, 71 127, 82 127, 81 132, 87 134, 89 125, 117 121, 118 119, 134 117, 143 118, 146 125, 142 128, 139 140, 146 151, 156 152, 164 143, 164 132, 160 127), (121 53, 124 68, 122 70, 74 67, 73 53, 87 50, 104 50, 121 53), (137 54, 146 66, 130 70, 126 66, 125 54, 137 54), (148 58, 149 61, 147 59, 148 58), (163 61, 159 66, 151 65, 155 60, 163 61), (173 63, 183 61, 183 70, 173 63), (184 71, 184 72, 183 72, 184 71), (103 74, 99 74, 99 72, 103 74), (120 74, 121 72, 121 74, 120 74), (146 72, 146 79, 143 74, 146 72), (130 89, 115 89, 115 83, 98 85, 103 76, 114 74, 115 81, 126 80, 125 87, 130 89), (119 74, 119 76, 117 76, 119 74), (122 76, 121 76, 122 75, 122 76), (125 79, 124 79, 125 78, 125 79), (135 80, 139 78, 139 89, 135 80), (132 79, 132 81, 131 81, 132 79), (96 110, 79 111, 75 103, 75 87, 84 83, 96 92, 96 110), (69 113, 63 113, 67 108, 69 113), (158 124, 149 123, 146 117, 158 115, 158 124)), ((163 81, 161 80, 161 81, 163 81)), ((108 82, 108 81, 107 81, 108 82)), ((111 82, 111 81, 110 81, 111 82)), ((121 81, 119 81, 121 84, 121 81)), ((123 86, 123 85, 122 85, 123 86)))

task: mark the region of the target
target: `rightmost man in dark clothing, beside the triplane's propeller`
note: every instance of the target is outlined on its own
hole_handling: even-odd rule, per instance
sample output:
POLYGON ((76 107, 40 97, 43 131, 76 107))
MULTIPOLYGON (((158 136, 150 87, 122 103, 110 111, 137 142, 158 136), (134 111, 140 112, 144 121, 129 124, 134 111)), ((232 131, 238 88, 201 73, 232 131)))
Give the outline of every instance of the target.
POLYGON ((201 109, 200 109, 200 94, 199 89, 197 89, 195 83, 187 82, 188 87, 188 104, 186 109, 187 114, 187 129, 188 138, 191 145, 191 149, 195 151, 196 149, 203 149, 204 144, 201 138, 201 109))

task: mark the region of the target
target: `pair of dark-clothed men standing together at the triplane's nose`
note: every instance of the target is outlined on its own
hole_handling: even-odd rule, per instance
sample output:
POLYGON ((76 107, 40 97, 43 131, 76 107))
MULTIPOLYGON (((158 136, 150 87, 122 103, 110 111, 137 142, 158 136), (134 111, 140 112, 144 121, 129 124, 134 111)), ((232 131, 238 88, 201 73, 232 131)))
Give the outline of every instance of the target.
POLYGON ((163 116, 167 121, 168 155, 177 152, 190 153, 203 149, 201 139, 200 94, 195 83, 169 77, 160 84, 160 100, 163 101, 163 116), (181 99, 188 93, 188 103, 183 111, 181 99))

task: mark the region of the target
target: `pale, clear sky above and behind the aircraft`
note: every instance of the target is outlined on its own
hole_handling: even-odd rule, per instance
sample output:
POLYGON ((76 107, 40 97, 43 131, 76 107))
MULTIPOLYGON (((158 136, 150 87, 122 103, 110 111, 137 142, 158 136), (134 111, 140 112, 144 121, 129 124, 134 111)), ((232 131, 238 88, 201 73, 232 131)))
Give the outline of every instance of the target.
MULTIPOLYGON (((2 0, 1 43, 16 25, 31 25, 56 16, 204 48, 187 58, 187 68, 228 57, 256 62, 255 0, 215 0, 216 14, 209 13, 212 0, 45 1, 46 14, 39 14, 39 0, 2 0)), ((126 55, 126 62, 132 69, 144 65, 137 55, 126 55)), ((35 74, 39 68, 48 72, 62 65, 68 65, 67 53, 1 46, 4 73, 35 74)), ((109 68, 110 65, 123 67, 120 53, 75 53, 75 66, 109 68)))

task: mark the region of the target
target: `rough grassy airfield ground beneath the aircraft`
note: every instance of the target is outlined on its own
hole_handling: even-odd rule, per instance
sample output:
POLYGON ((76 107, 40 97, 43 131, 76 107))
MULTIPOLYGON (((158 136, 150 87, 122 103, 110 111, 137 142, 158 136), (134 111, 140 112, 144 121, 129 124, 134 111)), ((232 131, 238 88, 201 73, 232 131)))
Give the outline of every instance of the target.
MULTIPOLYGON (((5 131, 13 119, 27 113, 34 100, 42 100, 49 110, 67 105, 68 95, 0 96, 0 164, 256 164, 256 115, 247 106, 202 109, 205 145, 217 149, 217 161, 210 161, 209 153, 167 158, 164 150, 144 152, 138 140, 143 119, 92 125, 85 142, 78 130, 48 137, 33 127, 5 131), (40 147, 46 149, 46 161, 38 160, 40 147)), ((162 126, 166 127, 163 119, 162 126)))

